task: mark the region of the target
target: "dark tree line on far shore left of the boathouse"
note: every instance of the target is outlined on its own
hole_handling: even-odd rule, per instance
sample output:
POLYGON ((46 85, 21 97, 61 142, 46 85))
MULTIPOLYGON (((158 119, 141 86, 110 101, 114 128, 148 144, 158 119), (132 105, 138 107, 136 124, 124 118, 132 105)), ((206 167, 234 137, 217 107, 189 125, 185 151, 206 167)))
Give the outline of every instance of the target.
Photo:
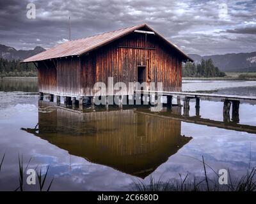
POLYGON ((36 77, 37 70, 32 63, 20 63, 0 58, 0 77, 36 77))

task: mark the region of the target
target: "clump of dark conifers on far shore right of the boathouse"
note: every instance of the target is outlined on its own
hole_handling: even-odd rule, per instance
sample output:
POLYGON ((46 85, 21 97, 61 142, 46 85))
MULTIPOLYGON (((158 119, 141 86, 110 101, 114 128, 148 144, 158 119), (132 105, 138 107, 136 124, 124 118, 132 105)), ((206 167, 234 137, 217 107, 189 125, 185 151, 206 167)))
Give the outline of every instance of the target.
POLYGON ((216 66, 212 59, 202 59, 200 64, 186 62, 182 66, 182 77, 225 77, 226 74, 216 66))

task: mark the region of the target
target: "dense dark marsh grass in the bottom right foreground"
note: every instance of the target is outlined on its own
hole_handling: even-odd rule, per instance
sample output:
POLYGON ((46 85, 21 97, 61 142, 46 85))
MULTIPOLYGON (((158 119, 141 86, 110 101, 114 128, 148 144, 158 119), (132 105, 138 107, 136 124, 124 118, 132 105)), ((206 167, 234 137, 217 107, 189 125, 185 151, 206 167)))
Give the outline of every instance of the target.
POLYGON ((250 164, 246 174, 239 179, 232 179, 230 170, 228 170, 228 184, 221 185, 218 182, 219 175, 211 166, 205 163, 204 156, 202 161, 196 159, 203 164, 204 176, 200 178, 189 178, 186 174, 184 179, 179 174, 179 179, 170 179, 167 182, 160 179, 156 180, 152 176, 149 178, 149 183, 143 180, 134 181, 132 191, 256 191, 256 166, 250 168, 250 164), (214 177, 210 178, 207 175, 207 168, 214 172, 214 177))

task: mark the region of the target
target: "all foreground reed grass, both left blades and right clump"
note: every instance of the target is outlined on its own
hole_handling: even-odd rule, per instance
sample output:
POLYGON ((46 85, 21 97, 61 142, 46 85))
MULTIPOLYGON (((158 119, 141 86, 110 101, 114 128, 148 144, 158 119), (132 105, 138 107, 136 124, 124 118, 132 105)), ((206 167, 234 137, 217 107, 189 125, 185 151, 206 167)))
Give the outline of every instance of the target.
MULTIPOLYGON (((4 156, 0 160, 0 173, 1 168, 4 163, 4 156)), ((199 159, 197 159, 200 161, 199 159)), ((19 156, 19 187, 15 189, 15 191, 24 191, 24 173, 28 169, 29 163, 31 158, 29 159, 26 168, 23 165, 23 158, 19 156)), ((133 183, 132 191, 256 191, 256 166, 250 168, 250 164, 248 166, 248 170, 246 174, 243 175, 239 179, 233 179, 231 177, 230 171, 228 170, 228 184, 221 185, 218 182, 218 173, 214 171, 211 166, 205 163, 204 156, 202 156, 202 162, 204 167, 204 176, 200 178, 193 177, 192 179, 189 178, 189 175, 186 174, 184 178, 182 175, 179 174, 179 179, 170 179, 167 182, 164 182, 161 178, 155 180, 153 177, 150 177, 149 183, 145 183, 142 180, 138 180, 137 182, 133 183), (207 168, 214 172, 215 177, 209 178, 207 175, 207 168)), ((37 166, 36 166, 37 168, 37 166)), ((35 168, 35 170, 36 170, 35 168)), ((49 191, 53 179, 49 183, 47 187, 45 186, 45 180, 48 176, 49 166, 45 174, 42 174, 42 170, 36 171, 38 184, 39 184, 39 191, 49 191)))

